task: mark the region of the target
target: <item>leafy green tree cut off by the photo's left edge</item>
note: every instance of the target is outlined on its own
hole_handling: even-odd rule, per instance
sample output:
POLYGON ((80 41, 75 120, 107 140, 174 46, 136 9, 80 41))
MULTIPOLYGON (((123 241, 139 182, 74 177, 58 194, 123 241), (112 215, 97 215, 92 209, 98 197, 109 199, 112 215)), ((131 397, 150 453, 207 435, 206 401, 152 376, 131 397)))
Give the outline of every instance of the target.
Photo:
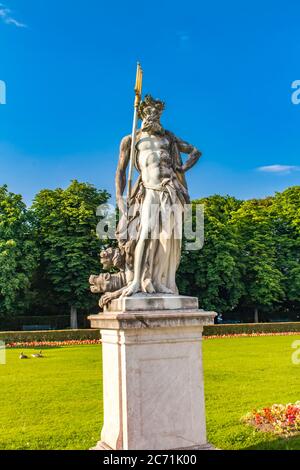
POLYGON ((22 197, 0 187, 0 316, 24 313, 38 262, 30 213, 22 197))

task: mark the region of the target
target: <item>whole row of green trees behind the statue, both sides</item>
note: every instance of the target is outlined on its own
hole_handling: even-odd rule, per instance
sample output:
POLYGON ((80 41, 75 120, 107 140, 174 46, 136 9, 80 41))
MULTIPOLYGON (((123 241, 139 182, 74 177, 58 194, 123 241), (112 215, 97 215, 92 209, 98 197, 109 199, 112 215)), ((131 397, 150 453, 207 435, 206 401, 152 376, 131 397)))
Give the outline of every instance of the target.
MULTIPOLYGON (((72 181, 27 207, 0 186, 0 318, 96 312, 88 278, 99 273, 96 208, 107 191, 72 181)), ((300 186, 273 197, 214 195, 204 205, 205 243, 183 249, 181 294, 224 319, 300 319, 300 186)))

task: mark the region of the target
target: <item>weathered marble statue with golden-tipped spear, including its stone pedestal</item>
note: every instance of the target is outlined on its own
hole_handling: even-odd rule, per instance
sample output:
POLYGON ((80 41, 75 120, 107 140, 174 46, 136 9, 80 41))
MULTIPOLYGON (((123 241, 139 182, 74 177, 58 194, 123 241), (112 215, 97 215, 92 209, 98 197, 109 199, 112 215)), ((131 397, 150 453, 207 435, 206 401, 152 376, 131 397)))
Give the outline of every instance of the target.
POLYGON ((201 152, 164 129, 164 103, 150 95, 142 101, 141 85, 138 64, 133 130, 121 142, 116 173, 116 237, 100 253, 106 272, 90 277, 105 307, 89 316, 101 334, 104 384, 93 449, 208 450, 201 339, 216 313, 176 286, 183 222, 190 228, 185 173, 201 152))

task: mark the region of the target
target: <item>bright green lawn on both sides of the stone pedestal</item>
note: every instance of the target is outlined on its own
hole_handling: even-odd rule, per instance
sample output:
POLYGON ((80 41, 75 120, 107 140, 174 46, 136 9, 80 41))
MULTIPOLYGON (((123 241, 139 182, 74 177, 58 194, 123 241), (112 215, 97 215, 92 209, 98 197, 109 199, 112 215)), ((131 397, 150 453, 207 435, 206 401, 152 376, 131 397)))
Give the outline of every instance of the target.
MULTIPOLYGON (((255 407, 300 400, 300 365, 291 344, 300 336, 205 340, 208 438, 221 449, 300 449, 240 418, 255 407)), ((32 351, 28 351, 31 353, 32 351)), ((44 350, 44 359, 0 365, 0 449, 88 449, 102 426, 101 347, 44 350)))

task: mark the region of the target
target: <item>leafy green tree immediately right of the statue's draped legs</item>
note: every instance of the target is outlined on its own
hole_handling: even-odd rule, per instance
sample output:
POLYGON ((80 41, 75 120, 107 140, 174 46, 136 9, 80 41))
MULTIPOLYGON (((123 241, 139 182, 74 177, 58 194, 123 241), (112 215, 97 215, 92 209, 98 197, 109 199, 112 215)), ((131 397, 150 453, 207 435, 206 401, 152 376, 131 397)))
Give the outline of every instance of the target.
POLYGON ((183 250, 178 272, 181 293, 199 298, 201 308, 230 312, 243 292, 239 271, 239 240, 232 214, 241 201, 230 196, 211 196, 194 201, 204 205, 204 246, 183 250))

